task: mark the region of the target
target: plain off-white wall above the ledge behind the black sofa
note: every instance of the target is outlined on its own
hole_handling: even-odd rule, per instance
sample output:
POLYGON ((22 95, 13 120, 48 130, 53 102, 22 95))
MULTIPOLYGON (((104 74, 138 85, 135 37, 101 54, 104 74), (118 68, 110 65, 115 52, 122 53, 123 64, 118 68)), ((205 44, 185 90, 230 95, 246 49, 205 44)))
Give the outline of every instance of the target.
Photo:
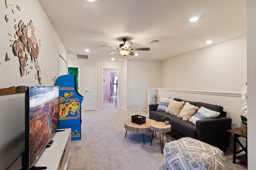
POLYGON ((162 62, 162 88, 240 92, 246 82, 246 36, 162 62))

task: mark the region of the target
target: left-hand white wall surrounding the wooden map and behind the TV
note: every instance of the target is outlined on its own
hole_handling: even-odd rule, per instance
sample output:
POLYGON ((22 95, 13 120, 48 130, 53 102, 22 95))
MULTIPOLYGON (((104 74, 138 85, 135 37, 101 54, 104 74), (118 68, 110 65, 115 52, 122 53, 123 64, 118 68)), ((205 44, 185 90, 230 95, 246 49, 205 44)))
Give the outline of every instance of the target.
MULTIPOLYGON (((41 33, 38 64, 41 69, 42 86, 53 86, 52 74, 58 76, 58 54, 67 59, 67 51, 48 20, 38 0, 15 0, 13 6, 6 8, 5 1, 0 3, 0 88, 10 86, 39 86, 35 69, 28 76, 20 76, 19 59, 12 53, 10 45, 15 40, 14 25, 23 20, 33 25, 41 33), (20 7, 20 11, 16 6, 20 7), (12 12, 14 10, 14 13, 12 12), (7 15, 6 22, 3 18, 7 15), (15 22, 14 22, 15 20, 15 22), (12 36, 8 35, 10 33, 12 36), (4 61, 6 52, 10 61, 4 61)), ((30 56, 29 56, 30 57, 30 56)), ((0 167, 8 168, 24 150, 24 93, 0 96, 0 167)))

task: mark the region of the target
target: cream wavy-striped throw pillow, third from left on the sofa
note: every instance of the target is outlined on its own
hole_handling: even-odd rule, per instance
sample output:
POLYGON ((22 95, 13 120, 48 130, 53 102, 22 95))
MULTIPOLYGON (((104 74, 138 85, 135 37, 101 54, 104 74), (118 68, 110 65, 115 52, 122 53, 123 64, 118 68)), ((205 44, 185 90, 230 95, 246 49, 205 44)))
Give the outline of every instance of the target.
POLYGON ((184 121, 187 121, 188 119, 190 119, 190 117, 192 117, 196 113, 196 111, 198 109, 199 109, 199 107, 194 106, 194 105, 190 104, 189 102, 186 102, 184 104, 184 106, 182 107, 178 117, 182 118, 182 120, 184 120, 184 121))

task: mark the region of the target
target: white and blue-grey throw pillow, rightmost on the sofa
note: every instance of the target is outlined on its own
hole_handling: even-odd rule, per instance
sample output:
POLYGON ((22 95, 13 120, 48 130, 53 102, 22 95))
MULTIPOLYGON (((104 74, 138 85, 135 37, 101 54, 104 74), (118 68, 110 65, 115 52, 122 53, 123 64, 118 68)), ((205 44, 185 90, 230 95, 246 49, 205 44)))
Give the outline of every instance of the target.
POLYGON ((190 119, 188 119, 188 121, 196 125, 196 121, 198 120, 216 118, 219 115, 220 115, 220 112, 213 111, 201 106, 200 109, 197 111, 197 113, 194 114, 190 119))

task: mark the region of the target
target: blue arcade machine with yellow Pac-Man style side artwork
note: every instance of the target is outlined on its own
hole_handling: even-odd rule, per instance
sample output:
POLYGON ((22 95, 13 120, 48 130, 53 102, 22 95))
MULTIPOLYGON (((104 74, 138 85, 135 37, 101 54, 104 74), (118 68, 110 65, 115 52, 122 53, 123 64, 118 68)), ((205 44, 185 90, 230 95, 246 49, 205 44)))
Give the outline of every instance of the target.
POLYGON ((59 76, 56 86, 60 86, 60 122, 58 129, 71 128, 71 140, 81 139, 81 104, 83 96, 76 90, 75 76, 72 74, 59 76))

